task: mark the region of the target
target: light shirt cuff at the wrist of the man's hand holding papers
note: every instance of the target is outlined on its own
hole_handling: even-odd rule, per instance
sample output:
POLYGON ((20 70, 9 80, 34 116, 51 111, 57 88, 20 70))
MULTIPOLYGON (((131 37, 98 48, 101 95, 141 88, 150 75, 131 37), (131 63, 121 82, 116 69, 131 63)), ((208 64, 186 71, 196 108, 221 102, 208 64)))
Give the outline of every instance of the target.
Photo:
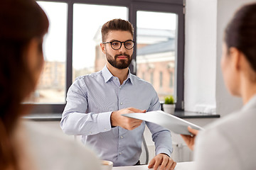
POLYGON ((107 132, 111 130, 110 115, 111 112, 99 113, 97 118, 98 130, 100 132, 107 132))

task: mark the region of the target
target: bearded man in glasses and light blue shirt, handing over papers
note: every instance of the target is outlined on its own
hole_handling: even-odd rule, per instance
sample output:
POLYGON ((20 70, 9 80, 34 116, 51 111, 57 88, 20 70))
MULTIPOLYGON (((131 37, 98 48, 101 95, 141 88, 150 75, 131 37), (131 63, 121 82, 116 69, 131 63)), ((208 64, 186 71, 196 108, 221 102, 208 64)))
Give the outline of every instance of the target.
POLYGON ((100 72, 78 77, 70 86, 60 127, 68 135, 82 135, 82 142, 92 146, 101 159, 112 161, 114 166, 131 166, 139 164, 147 125, 156 147, 149 168, 161 165, 161 169, 174 169, 169 130, 122 116, 160 110, 153 86, 129 71, 133 34, 132 24, 122 19, 102 26, 100 47, 107 64, 100 72))

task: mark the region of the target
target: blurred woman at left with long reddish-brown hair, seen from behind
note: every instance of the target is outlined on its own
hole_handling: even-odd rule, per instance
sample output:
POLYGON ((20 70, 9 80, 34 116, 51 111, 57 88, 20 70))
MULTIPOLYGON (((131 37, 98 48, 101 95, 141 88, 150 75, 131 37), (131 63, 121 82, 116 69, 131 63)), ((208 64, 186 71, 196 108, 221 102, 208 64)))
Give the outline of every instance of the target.
POLYGON ((22 102, 36 89, 43 67, 46 13, 33 0, 0 1, 0 169, 100 169, 97 157, 53 130, 21 120, 22 102))

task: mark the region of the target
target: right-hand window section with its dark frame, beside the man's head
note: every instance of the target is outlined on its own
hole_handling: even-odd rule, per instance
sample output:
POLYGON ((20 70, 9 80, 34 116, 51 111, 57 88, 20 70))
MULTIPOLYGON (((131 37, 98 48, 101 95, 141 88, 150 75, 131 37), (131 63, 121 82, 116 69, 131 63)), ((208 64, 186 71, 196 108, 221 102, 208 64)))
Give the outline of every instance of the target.
POLYGON ((152 8, 150 5, 137 7, 137 74, 150 74, 159 101, 174 95, 178 108, 182 109, 183 76, 176 76, 183 75, 183 47, 179 45, 183 42, 182 17, 171 8, 152 8), (158 81, 154 84, 153 73, 158 81))

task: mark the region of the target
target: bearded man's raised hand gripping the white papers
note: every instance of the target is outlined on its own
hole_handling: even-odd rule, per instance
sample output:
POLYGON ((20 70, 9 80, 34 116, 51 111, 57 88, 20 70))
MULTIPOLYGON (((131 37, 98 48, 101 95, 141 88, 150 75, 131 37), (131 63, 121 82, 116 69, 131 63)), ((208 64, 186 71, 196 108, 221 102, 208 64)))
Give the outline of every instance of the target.
POLYGON ((145 113, 146 110, 142 111, 137 108, 124 108, 119 111, 113 111, 110 120, 112 126, 119 126, 127 130, 134 130, 138 128, 142 124, 142 120, 127 118, 122 116, 122 114, 126 113, 145 113))

